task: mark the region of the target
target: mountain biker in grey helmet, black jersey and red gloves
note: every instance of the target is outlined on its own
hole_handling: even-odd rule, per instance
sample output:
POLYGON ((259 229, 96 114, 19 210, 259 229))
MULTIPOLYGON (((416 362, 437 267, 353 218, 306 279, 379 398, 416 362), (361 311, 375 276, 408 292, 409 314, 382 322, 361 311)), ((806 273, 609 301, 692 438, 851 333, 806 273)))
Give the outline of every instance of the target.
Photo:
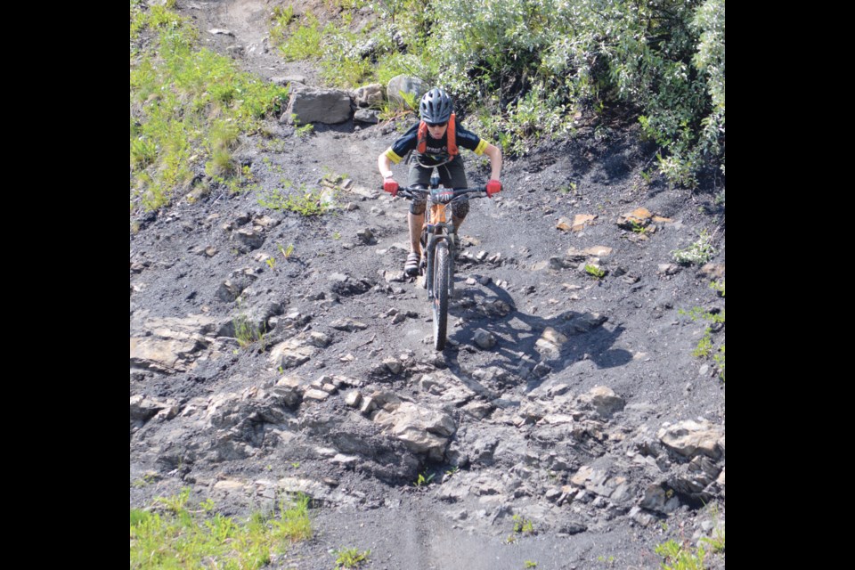
MULTIPOLYGON (((409 131, 392 143, 392 146, 377 159, 377 167, 383 176, 383 190, 393 196, 398 193, 398 183, 393 178, 392 163, 398 164, 408 152, 412 151, 408 185, 428 188, 430 175, 437 167, 440 181, 445 188, 466 188, 466 171, 459 147, 486 154, 490 158, 490 182, 487 183, 487 196, 501 191, 501 150, 486 142, 456 121, 452 98, 443 89, 433 88, 424 94, 419 102, 421 120, 409 131)), ((424 199, 413 199, 407 224, 410 229, 410 255, 407 256, 404 272, 408 275, 419 273, 421 244, 419 237, 425 213, 424 199)), ((469 211, 467 200, 458 200, 452 204, 452 222, 459 228, 469 211)))

